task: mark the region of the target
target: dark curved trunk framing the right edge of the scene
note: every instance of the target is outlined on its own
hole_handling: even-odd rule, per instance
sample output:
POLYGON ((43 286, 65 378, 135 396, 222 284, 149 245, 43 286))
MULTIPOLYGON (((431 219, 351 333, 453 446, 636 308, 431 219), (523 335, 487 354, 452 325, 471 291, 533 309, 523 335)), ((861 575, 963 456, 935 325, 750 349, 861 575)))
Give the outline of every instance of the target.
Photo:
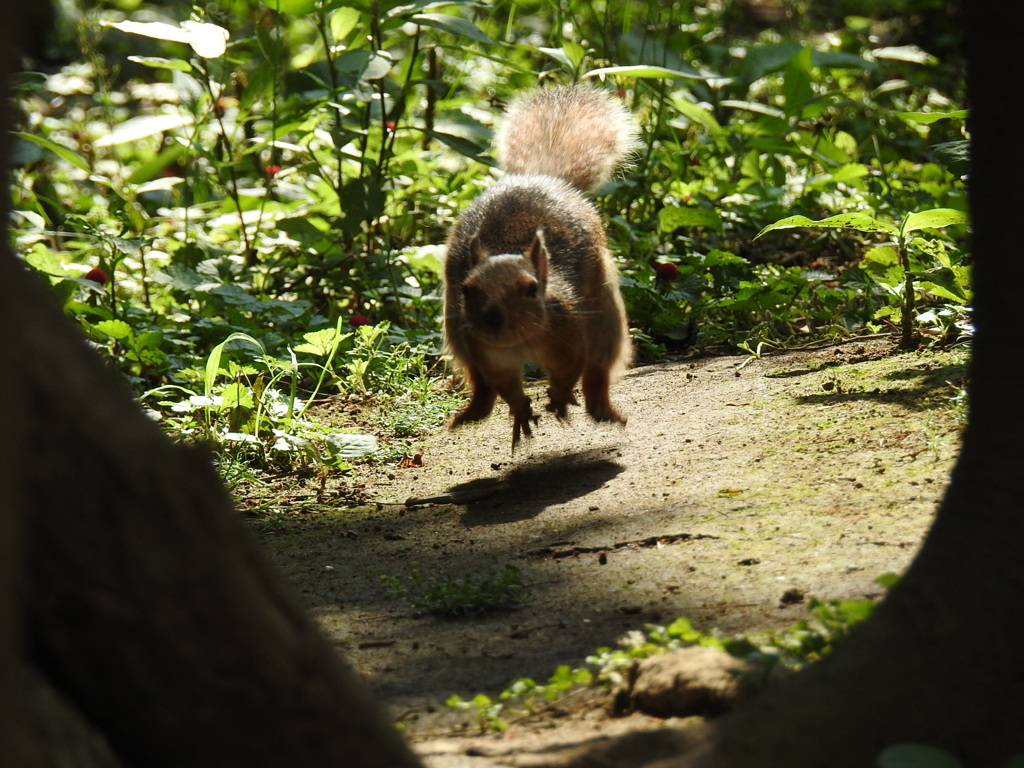
POLYGON ((1024 153, 1009 104, 1024 82, 1020 12, 970 0, 971 215, 977 335, 968 428, 920 555, 830 657, 724 718, 664 766, 873 766, 923 742, 967 766, 1024 754, 1024 153))

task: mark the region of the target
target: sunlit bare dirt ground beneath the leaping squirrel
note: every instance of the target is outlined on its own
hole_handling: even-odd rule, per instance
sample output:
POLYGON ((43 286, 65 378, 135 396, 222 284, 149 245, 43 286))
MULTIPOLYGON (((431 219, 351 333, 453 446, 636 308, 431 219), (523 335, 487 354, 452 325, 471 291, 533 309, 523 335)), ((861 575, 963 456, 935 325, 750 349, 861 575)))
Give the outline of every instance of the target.
MULTIPOLYGON (((289 517, 260 540, 428 764, 525 764, 494 757, 497 744, 564 712, 467 748, 453 738, 475 726, 444 700, 546 681, 677 616, 737 634, 805 616, 793 595, 880 596, 874 580, 905 568, 946 485, 963 362, 871 339, 634 369, 612 393, 625 428, 542 417, 513 457, 500 407, 423 438, 422 467, 328 484, 360 484, 372 504, 289 517), (506 612, 421 614, 385 583, 414 564, 465 575, 509 563, 532 586, 506 612)), ((599 709, 567 720, 578 738, 656 725, 599 709)))

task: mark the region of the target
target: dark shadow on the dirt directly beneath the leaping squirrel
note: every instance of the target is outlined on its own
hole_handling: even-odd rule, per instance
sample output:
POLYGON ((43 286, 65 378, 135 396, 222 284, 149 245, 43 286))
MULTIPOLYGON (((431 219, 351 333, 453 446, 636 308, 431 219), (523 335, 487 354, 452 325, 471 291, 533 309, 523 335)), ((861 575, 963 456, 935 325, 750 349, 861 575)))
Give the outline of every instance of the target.
POLYGON ((545 454, 503 477, 470 480, 450 492, 472 498, 463 525, 496 525, 537 517, 548 507, 585 497, 624 469, 607 458, 607 450, 545 454))

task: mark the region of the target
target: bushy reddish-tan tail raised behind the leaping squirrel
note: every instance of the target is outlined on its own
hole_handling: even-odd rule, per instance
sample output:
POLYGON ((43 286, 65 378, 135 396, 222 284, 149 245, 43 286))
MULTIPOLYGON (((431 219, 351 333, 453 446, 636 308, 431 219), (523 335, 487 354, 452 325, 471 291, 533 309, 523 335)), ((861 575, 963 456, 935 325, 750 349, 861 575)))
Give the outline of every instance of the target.
POLYGON ((496 143, 508 173, 556 176, 581 191, 594 191, 626 162, 637 136, 633 113, 611 93, 566 85, 513 99, 496 143))

